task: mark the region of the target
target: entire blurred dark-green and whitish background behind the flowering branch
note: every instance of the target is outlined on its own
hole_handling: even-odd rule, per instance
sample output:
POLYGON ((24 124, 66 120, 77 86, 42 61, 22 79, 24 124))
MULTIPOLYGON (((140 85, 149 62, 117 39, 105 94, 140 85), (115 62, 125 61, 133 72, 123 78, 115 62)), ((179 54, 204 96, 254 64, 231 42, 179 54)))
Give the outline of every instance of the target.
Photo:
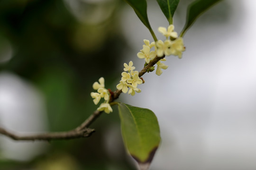
MULTIPOLYGON (((155 0, 148 17, 168 26, 155 0)), ((174 17, 181 31, 186 8, 174 17)), ((254 0, 223 0, 184 36, 183 59, 161 76, 145 74, 141 93, 119 101, 151 109, 162 143, 151 170, 255 170, 256 23, 254 0)), ((153 40, 122 0, 0 0, 0 126, 19 134, 65 131, 97 108, 92 84, 119 83, 123 63, 153 40)), ((125 153, 117 108, 89 138, 20 142, 0 136, 0 170, 136 170, 125 153)))

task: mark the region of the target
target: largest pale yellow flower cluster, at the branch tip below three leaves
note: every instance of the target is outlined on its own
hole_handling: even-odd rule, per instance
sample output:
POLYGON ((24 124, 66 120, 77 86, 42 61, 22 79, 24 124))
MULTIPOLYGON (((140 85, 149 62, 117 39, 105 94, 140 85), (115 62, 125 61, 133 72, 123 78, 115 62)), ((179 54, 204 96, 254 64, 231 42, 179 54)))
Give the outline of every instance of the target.
MULTIPOLYGON (((144 40, 145 45, 143 45, 143 49, 137 53, 137 57, 140 59, 145 59, 145 62, 148 64, 150 60, 155 59, 155 57, 163 57, 165 56, 178 56, 180 59, 182 58, 182 52, 185 51, 185 47, 183 44, 183 38, 178 37, 178 34, 174 32, 174 25, 165 27, 159 27, 158 31, 166 37, 166 40, 163 42, 162 40, 158 40, 156 42, 149 42, 149 40, 144 40), (151 48, 155 48, 155 50, 150 51, 151 48)), ((166 59, 161 59, 165 61, 166 59)), ((158 61, 157 68, 155 74, 160 76, 163 71, 161 69, 167 69, 164 63, 158 61)))

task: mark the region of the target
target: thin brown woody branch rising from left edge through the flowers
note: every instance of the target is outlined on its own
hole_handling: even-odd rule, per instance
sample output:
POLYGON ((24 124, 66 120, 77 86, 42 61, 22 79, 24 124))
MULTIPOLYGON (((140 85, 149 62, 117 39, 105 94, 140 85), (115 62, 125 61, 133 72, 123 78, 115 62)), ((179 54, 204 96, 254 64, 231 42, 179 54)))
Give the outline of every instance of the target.
MULTIPOLYGON (((165 58, 165 56, 155 57, 155 59, 152 59, 148 63, 148 65, 146 65, 144 68, 142 68, 142 70, 140 70, 138 76, 139 77, 143 76, 147 72, 148 68, 151 68, 160 59, 163 59, 163 58, 165 58)), ((110 97, 110 102, 113 102, 114 100, 118 99, 121 93, 122 93, 121 90, 114 91, 110 97)), ((49 133, 42 133, 37 135, 16 135, 13 132, 10 132, 0 127, 0 134, 8 136, 13 140, 29 140, 29 141, 35 141, 35 140, 49 141, 54 139, 74 139, 74 138, 88 137, 88 136, 91 136, 93 132, 95 132, 94 129, 91 129, 88 127, 101 115, 102 112, 103 111, 95 110, 80 126, 66 132, 49 132, 49 133)))

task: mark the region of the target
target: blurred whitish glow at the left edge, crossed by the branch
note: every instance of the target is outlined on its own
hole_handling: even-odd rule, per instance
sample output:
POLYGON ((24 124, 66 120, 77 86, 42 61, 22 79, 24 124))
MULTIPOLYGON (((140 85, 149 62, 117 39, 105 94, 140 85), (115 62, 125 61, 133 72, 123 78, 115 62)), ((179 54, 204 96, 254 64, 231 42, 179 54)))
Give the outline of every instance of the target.
MULTIPOLYGON (((42 94, 33 85, 7 72, 0 73, 0 126, 18 134, 47 129, 42 94)), ((0 136, 0 159, 28 161, 44 153, 47 145, 46 142, 14 141, 0 136)))

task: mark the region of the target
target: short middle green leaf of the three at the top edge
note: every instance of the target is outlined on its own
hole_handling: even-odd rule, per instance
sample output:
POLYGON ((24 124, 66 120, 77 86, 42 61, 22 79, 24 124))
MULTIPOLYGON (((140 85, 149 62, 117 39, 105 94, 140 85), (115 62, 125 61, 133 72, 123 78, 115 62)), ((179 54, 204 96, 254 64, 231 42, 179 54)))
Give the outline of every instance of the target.
POLYGON ((179 2, 180 0, 157 0, 170 25, 173 24, 174 12, 179 2))

